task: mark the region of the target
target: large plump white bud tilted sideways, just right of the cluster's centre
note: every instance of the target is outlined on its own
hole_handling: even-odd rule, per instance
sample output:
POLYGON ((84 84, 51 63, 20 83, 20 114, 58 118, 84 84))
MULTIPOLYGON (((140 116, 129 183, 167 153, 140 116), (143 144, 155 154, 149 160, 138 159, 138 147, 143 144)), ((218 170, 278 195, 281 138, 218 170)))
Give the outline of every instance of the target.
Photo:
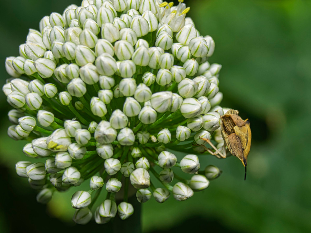
POLYGON ((170 91, 161 91, 151 95, 151 106, 157 112, 166 112, 172 105, 173 93, 170 91))

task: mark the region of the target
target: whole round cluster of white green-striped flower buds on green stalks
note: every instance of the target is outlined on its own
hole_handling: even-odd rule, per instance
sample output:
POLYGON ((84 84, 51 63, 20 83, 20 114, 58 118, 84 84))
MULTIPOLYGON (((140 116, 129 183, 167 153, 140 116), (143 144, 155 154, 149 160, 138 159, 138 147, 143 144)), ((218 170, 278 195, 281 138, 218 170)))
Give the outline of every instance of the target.
POLYGON ((17 162, 16 172, 39 190, 38 202, 87 181, 90 190, 72 195, 73 220, 94 215, 104 224, 133 214, 129 183, 138 202, 163 203, 171 193, 186 200, 220 175, 215 166, 200 170, 195 154, 208 154, 202 138, 224 145, 221 65, 208 62, 215 43, 189 10, 182 0, 83 0, 44 16, 20 56, 7 57, 12 78, 2 90, 15 108, 7 133, 30 141, 23 153, 33 162, 17 162), (178 151, 188 155, 178 161, 178 151), (192 175, 174 179, 176 169, 192 175), (102 187, 108 195, 93 209, 102 187))

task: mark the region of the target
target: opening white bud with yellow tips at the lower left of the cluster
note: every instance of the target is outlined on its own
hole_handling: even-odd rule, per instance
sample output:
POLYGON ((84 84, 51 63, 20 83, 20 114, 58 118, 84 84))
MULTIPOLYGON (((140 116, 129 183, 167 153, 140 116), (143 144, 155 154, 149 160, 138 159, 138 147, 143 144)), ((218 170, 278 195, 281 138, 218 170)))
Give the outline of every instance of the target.
POLYGON ((57 129, 47 138, 46 144, 52 151, 66 151, 71 139, 65 129, 57 129))

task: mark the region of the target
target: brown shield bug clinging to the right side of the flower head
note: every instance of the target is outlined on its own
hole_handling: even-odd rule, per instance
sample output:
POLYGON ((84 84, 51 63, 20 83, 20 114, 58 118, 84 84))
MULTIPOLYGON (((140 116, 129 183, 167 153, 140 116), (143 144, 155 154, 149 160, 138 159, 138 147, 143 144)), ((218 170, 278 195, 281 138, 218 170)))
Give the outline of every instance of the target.
POLYGON ((246 179, 246 165, 247 156, 251 147, 252 132, 250 129, 250 122, 248 119, 245 121, 239 116, 239 112, 230 109, 223 116, 221 116, 220 130, 222 138, 224 139, 224 149, 223 154, 211 143, 209 139, 201 138, 207 141, 211 145, 215 152, 206 148, 207 151, 213 155, 220 155, 222 158, 226 158, 226 146, 228 147, 230 153, 235 157, 238 157, 244 167, 245 167, 245 177, 246 179))

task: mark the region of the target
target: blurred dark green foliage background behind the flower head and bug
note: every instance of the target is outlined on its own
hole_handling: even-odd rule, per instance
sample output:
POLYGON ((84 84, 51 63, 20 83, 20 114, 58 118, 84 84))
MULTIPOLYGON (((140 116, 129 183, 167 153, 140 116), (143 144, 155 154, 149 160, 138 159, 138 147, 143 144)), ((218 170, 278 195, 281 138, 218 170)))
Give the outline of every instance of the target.
MULTIPOLYGON (((77 0, 1 1, 1 85, 9 78, 7 56, 17 56, 28 28, 52 11, 63 12, 77 0)), ((202 35, 216 43, 210 62, 223 65, 220 91, 223 107, 249 118, 252 148, 248 177, 233 157, 200 157, 202 167, 214 164, 223 174, 185 202, 172 197, 142 206, 143 232, 310 232, 311 158, 311 2, 302 0, 185 0, 202 35)), ((75 226, 72 192, 57 195, 47 207, 36 203, 36 191, 15 173, 25 159, 24 142, 6 135, 10 109, 1 101, 0 232, 100 231, 107 226, 75 226), (72 227, 72 228, 71 228, 72 227)), ((131 220, 130 220, 131 221, 131 220)))

